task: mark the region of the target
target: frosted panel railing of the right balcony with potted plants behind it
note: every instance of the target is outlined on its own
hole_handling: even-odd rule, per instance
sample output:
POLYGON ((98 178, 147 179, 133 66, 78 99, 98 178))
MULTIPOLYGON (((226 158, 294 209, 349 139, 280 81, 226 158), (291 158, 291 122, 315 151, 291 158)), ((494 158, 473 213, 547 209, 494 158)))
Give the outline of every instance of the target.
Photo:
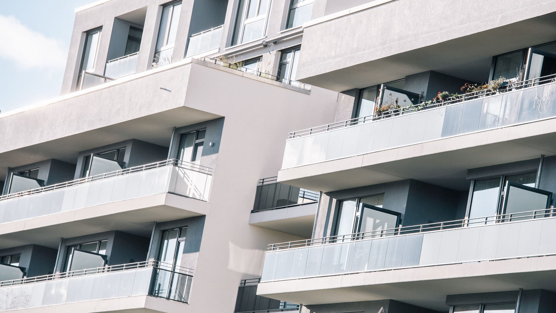
POLYGON ((282 169, 556 117, 556 75, 290 133, 282 169), (482 92, 482 94, 481 94, 482 92))

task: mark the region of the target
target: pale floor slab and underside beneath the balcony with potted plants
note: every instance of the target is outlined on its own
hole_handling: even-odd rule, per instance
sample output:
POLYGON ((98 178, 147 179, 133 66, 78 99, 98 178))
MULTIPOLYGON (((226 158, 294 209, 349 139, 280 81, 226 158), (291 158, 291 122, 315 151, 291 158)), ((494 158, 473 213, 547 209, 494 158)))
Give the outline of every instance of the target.
POLYGON ((556 119, 282 169, 278 181, 322 192, 404 179, 465 190, 469 188, 467 169, 535 159, 541 154, 556 155, 556 119), (347 162, 350 159, 358 162, 347 162))

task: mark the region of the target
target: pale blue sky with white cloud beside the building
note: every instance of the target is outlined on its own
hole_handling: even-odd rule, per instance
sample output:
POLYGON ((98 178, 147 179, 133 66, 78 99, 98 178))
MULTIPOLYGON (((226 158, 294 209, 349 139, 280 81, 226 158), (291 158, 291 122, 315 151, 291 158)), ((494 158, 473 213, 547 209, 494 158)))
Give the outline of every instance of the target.
POLYGON ((60 94, 75 8, 95 0, 0 0, 0 111, 60 94))

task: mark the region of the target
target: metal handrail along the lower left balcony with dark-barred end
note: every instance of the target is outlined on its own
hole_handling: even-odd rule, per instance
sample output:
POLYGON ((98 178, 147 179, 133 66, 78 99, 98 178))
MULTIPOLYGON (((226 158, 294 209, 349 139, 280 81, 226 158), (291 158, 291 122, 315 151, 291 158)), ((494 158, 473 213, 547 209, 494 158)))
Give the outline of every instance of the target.
POLYGON ((137 268, 146 268, 146 267, 157 268, 159 270, 165 270, 165 271, 186 275, 190 277, 193 277, 193 272, 194 272, 192 268, 171 265, 170 263, 165 263, 160 261, 143 261, 143 262, 120 264, 120 265, 87 268, 85 270, 75 270, 75 271, 54 273, 54 274, 35 276, 35 277, 19 278, 17 280, 0 281, 0 287, 23 285, 26 283, 34 283, 34 282, 49 281, 49 280, 57 280, 57 279, 73 277, 73 276, 92 275, 98 273, 108 273, 108 272, 124 271, 124 270, 136 270, 137 268))

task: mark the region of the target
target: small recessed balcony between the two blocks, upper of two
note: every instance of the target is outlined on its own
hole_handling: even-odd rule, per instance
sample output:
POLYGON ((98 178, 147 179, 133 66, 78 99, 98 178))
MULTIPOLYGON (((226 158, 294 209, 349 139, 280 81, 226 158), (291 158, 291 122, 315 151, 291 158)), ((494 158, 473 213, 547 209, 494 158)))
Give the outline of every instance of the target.
POLYGON ((259 180, 249 224, 310 238, 319 193, 277 183, 276 177, 259 180))

